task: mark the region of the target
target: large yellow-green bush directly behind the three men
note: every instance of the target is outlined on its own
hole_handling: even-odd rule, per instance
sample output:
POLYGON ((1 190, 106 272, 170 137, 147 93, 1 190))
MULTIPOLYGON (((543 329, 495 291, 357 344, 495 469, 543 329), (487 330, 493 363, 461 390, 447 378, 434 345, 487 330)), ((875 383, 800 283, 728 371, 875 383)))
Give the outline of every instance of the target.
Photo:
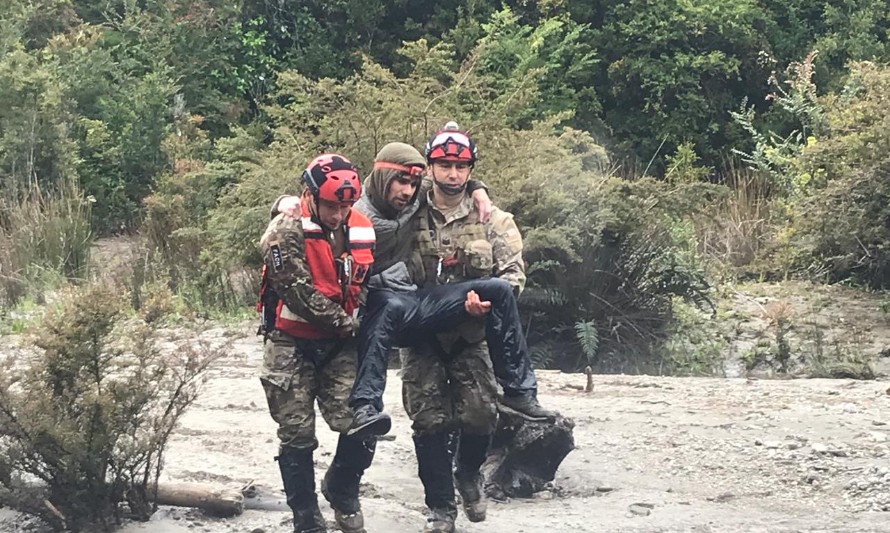
POLYGON ((563 115, 518 128, 541 98, 535 82, 547 73, 546 62, 505 86, 475 66, 492 53, 487 46, 457 69, 444 45, 408 43, 403 53, 414 65, 405 77, 370 61, 346 80, 280 77, 283 104, 269 109, 278 125, 275 139, 256 162, 242 164, 238 183, 223 190, 197 230, 202 257, 258 265, 268 206, 299 190, 298 169, 317 151, 340 151, 368 170, 385 143, 422 146, 433 129, 456 119, 480 147, 474 176, 485 180, 500 207, 518 215, 530 279, 521 304, 537 362, 621 369, 651 356, 671 297, 706 298, 687 217, 716 189, 609 177, 605 150, 589 134, 560 128, 563 115), (581 323, 597 330, 595 356, 592 337, 579 343, 575 335, 581 323))

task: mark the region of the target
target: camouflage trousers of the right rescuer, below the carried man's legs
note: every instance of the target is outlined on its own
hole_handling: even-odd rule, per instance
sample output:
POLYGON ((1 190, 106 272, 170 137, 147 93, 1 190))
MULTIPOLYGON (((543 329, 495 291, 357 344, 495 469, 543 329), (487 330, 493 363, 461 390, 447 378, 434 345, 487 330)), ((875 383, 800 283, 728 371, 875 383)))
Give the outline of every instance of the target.
POLYGON ((454 348, 446 353, 432 341, 400 352, 402 402, 415 435, 452 429, 494 433, 498 389, 488 345, 483 340, 454 348))

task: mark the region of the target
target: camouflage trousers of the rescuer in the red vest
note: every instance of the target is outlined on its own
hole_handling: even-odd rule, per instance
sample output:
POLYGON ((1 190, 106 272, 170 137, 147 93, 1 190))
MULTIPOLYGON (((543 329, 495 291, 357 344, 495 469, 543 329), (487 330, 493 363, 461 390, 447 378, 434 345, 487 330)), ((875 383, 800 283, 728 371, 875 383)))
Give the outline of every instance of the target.
POLYGON ((295 339, 272 332, 264 346, 260 382, 269 413, 278 423, 280 449, 315 449, 315 403, 331 430, 352 423, 349 392, 355 381, 352 339, 295 339))

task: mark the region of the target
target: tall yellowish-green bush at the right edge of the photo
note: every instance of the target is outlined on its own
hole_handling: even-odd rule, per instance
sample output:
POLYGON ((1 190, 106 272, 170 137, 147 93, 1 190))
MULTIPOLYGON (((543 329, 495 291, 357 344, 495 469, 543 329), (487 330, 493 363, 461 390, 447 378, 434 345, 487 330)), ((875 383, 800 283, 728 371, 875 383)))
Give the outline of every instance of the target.
POLYGON ((890 66, 855 63, 824 99, 825 134, 800 156, 812 193, 795 205, 798 264, 827 281, 890 288, 890 66))

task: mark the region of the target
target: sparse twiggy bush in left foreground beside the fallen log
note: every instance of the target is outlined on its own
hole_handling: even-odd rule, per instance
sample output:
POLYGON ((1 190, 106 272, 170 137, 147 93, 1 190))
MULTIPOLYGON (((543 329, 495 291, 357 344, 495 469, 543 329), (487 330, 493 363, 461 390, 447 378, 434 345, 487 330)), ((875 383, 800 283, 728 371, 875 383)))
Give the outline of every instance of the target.
POLYGON ((162 352, 120 292, 69 292, 0 372, 0 506, 56 530, 111 531, 119 503, 147 519, 167 440, 218 353, 162 352))

